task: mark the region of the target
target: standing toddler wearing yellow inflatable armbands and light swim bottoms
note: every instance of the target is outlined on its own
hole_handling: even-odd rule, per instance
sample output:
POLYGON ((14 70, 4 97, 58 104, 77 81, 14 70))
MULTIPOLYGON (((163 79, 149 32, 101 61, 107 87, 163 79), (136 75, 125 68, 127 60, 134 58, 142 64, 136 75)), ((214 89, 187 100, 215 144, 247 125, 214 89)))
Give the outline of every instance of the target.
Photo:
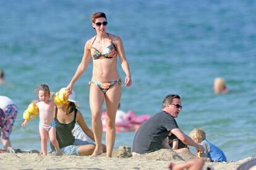
POLYGON ((30 105, 28 105, 27 110, 25 110, 23 113, 23 118, 25 119, 25 121, 23 121, 22 126, 26 126, 28 124, 28 121, 35 118, 39 112, 39 132, 41 137, 41 151, 43 152, 43 155, 47 155, 48 137, 51 143, 54 145, 54 148, 56 149, 56 155, 62 155, 59 148, 58 140, 56 139, 54 102, 56 104, 67 102, 67 99, 65 99, 66 93, 64 91, 60 91, 52 96, 54 100, 49 100, 49 87, 46 84, 41 84, 36 90, 36 94, 38 95, 38 99, 40 100, 40 102, 31 103, 30 105))

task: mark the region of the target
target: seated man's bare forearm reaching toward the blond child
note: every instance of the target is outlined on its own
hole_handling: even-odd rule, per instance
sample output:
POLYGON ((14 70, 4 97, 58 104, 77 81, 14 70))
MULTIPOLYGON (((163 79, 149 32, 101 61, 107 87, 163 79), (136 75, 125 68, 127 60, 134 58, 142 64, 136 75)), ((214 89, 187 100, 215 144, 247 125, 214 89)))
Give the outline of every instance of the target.
POLYGON ((192 140, 189 136, 184 134, 184 132, 181 131, 179 128, 171 129, 171 132, 179 139, 181 142, 184 144, 190 145, 192 147, 195 147, 197 150, 204 151, 205 149, 203 148, 202 145, 197 144, 192 140))

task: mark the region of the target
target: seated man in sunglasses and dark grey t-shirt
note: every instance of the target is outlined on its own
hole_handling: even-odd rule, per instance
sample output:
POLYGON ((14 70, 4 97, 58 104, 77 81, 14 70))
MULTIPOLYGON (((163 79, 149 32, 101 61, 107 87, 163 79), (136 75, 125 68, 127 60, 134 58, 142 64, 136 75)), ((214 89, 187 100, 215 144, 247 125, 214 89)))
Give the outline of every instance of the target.
POLYGON ((163 100, 162 110, 143 123, 136 132, 132 145, 132 155, 154 152, 161 148, 171 148, 169 145, 164 147, 164 140, 170 132, 184 144, 203 151, 202 145, 195 143, 177 126, 174 118, 177 118, 181 109, 181 97, 176 94, 167 95, 163 100))

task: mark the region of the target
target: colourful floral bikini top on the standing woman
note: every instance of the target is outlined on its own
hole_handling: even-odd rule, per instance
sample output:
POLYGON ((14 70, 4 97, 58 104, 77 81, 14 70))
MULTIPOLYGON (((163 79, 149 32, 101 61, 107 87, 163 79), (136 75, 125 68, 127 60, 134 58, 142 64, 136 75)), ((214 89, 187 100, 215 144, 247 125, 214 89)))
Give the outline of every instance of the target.
MULTIPOLYGON (((109 34, 108 34, 108 37, 109 37, 109 39, 111 39, 109 34)), ((95 39, 96 39, 96 36, 95 36, 95 39)), ((92 54, 93 60, 112 59, 113 57, 116 57, 117 49, 116 49, 116 46, 112 39, 111 39, 111 44, 108 47, 106 47, 106 49, 102 53, 100 51, 98 51, 98 49, 93 47, 93 43, 94 43, 95 39, 93 40, 92 46, 91 46, 91 54, 92 54)))

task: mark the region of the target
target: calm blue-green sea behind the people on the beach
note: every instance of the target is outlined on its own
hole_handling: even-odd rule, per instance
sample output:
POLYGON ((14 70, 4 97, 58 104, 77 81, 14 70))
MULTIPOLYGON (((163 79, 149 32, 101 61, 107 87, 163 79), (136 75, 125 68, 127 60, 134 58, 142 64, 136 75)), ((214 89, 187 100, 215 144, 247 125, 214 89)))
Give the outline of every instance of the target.
MULTIPOLYGON (((154 115, 165 95, 179 94, 182 131, 205 129, 228 160, 256 156, 255 5, 249 0, 1 0, 0 68, 13 87, 0 86, 0 95, 19 107, 12 146, 40 150, 38 118, 21 128, 22 113, 36 98, 38 84, 51 91, 67 86, 85 41, 95 34, 90 15, 103 11, 108 32, 124 42, 132 73, 132 86, 122 87, 122 110, 154 115), (218 76, 226 79, 229 94, 213 93, 218 76)), ((89 126, 91 75, 92 63, 74 87, 89 126)), ((117 134, 115 147, 132 145, 133 137, 133 132, 117 134)))

